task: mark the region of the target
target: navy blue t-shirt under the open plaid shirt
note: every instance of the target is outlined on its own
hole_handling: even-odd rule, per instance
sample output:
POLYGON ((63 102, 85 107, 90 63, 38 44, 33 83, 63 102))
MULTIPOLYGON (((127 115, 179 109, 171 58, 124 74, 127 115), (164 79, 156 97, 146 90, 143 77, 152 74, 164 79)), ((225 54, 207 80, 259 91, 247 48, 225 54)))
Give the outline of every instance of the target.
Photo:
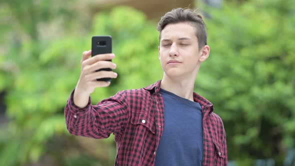
POLYGON ((164 128, 155 156, 155 166, 201 166, 203 129, 201 106, 160 89, 164 100, 164 128))

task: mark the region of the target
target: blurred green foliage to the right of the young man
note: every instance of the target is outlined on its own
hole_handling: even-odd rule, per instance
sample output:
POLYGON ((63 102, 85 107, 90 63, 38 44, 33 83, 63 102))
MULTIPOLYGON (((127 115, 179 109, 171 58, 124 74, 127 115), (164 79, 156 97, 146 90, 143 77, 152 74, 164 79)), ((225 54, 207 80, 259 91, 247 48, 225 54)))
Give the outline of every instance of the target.
POLYGON ((223 119, 228 156, 282 165, 295 145, 295 2, 249 0, 206 11, 211 57, 196 87, 223 119))

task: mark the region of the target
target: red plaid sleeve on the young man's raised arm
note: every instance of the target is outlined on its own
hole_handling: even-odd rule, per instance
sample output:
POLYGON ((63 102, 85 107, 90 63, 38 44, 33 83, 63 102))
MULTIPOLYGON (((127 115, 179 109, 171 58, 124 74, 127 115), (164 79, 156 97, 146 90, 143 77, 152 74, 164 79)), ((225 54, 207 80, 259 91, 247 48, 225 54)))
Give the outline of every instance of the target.
POLYGON ((64 108, 66 128, 69 133, 91 138, 107 138, 112 132, 123 128, 128 120, 127 97, 124 91, 101 100, 96 105, 79 108, 73 103, 73 92, 64 108))

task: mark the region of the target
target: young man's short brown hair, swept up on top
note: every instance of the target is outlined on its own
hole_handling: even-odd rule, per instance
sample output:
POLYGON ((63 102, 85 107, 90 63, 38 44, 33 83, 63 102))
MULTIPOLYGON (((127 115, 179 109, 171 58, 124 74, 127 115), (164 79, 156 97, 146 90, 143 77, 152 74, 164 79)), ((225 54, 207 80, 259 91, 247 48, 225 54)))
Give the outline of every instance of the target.
MULTIPOLYGON (((195 28, 195 35, 198 40, 199 49, 207 44, 207 31, 203 16, 190 8, 174 8, 171 11, 165 13, 161 17, 161 20, 157 24, 157 30, 160 32, 167 24, 188 22, 195 28)), ((160 36, 159 36, 160 37, 160 36)))

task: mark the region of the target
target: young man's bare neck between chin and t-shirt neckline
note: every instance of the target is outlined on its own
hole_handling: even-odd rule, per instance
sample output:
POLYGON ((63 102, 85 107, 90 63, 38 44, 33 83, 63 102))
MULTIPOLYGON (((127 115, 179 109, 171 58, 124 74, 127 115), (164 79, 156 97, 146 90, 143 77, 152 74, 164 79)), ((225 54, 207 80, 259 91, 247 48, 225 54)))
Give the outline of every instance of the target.
POLYGON ((164 73, 160 87, 180 97, 193 101, 193 86, 195 77, 190 79, 173 79, 164 73))

